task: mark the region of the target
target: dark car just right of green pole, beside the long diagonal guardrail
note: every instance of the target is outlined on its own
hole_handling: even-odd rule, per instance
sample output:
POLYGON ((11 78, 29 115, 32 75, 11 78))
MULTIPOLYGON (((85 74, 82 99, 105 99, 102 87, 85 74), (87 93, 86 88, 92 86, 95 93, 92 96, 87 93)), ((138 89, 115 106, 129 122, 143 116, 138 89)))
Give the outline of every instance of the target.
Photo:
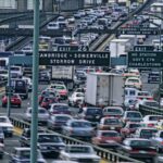
POLYGON ((65 148, 65 143, 58 134, 41 133, 38 134, 38 149, 43 155, 52 154, 59 158, 60 151, 65 148))

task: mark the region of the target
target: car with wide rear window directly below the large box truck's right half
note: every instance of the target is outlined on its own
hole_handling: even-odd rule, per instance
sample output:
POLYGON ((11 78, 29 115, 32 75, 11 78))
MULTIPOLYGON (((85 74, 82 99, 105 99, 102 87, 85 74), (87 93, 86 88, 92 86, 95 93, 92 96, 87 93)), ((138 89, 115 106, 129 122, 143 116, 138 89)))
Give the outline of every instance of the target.
POLYGON ((124 111, 121 106, 106 106, 103 109, 103 116, 115 116, 115 117, 122 117, 124 114, 124 111))

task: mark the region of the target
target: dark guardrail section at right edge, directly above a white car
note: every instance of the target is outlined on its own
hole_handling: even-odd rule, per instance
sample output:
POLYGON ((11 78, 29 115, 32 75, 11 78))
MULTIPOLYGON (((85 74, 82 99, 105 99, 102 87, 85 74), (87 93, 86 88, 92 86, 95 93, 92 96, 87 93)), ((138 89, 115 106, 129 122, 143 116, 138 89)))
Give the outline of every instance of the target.
POLYGON ((163 115, 163 109, 140 104, 139 111, 142 115, 163 115))

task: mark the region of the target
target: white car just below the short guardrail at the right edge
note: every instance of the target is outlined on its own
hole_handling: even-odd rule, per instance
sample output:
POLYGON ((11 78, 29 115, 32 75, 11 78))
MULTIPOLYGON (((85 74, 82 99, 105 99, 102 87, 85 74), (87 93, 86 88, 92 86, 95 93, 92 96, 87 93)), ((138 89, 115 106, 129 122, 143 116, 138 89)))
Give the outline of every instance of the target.
POLYGON ((154 127, 160 120, 163 120, 163 116, 161 116, 161 115, 146 115, 143 117, 142 124, 145 127, 154 127))

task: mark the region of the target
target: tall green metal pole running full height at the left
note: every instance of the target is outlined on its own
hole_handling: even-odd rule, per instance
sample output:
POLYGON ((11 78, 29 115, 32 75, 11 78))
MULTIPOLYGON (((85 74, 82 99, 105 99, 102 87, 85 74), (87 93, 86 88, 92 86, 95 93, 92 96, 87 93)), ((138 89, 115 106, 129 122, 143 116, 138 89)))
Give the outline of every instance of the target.
POLYGON ((33 47, 33 93, 32 93, 32 140, 30 163, 37 162, 37 127, 38 127, 38 66, 39 66, 39 0, 34 0, 34 47, 33 47))

